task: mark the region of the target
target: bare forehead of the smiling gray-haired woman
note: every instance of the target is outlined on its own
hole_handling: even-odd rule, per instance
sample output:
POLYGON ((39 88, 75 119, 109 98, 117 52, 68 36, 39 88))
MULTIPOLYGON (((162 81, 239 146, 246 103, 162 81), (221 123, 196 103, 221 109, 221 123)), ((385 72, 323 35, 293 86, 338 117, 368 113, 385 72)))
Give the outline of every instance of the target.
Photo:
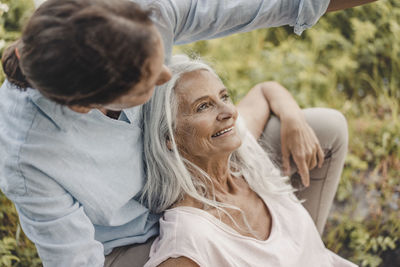
POLYGON ((208 70, 195 70, 181 76, 175 88, 179 101, 192 103, 208 95, 219 94, 224 84, 208 70))

